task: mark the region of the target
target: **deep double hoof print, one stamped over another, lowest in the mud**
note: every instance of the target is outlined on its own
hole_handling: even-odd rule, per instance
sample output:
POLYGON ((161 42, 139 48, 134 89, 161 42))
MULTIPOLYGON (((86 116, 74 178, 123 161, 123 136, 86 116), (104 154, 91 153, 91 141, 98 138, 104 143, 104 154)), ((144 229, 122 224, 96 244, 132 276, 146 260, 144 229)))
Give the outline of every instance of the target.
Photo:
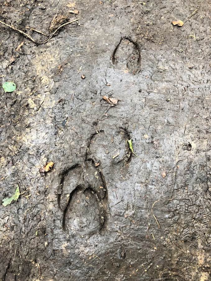
POLYGON ((64 171, 58 195, 63 230, 70 234, 103 234, 107 226, 107 199, 104 177, 93 160, 64 171))

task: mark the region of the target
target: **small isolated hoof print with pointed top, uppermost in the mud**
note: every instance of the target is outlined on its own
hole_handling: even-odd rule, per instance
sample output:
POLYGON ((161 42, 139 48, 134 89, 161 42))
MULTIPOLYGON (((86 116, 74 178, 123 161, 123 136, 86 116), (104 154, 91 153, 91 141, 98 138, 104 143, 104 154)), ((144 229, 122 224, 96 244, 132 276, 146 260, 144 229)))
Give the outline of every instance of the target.
POLYGON ((130 38, 121 38, 113 51, 111 60, 116 69, 135 74, 141 64, 138 43, 130 38))

